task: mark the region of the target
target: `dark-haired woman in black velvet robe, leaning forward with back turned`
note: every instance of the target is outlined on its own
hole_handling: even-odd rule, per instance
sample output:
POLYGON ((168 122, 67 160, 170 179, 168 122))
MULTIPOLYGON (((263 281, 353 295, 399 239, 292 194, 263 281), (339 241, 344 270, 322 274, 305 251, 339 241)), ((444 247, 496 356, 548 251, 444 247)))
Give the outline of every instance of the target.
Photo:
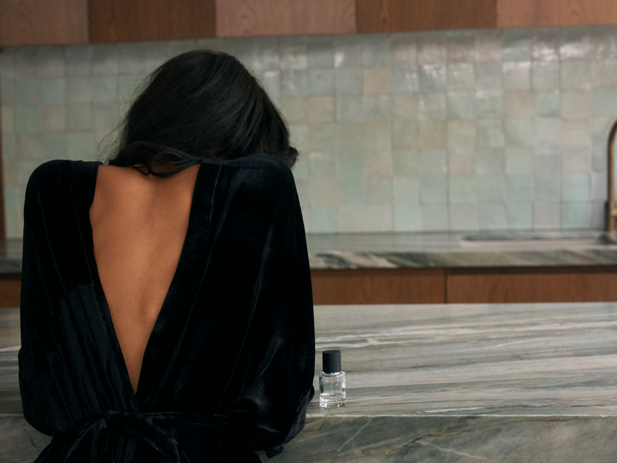
POLYGON ((38 462, 244 462, 313 396, 304 225, 281 115, 233 57, 152 74, 109 165, 50 161, 24 207, 25 418, 38 462), (261 154, 265 153, 265 154, 261 154))

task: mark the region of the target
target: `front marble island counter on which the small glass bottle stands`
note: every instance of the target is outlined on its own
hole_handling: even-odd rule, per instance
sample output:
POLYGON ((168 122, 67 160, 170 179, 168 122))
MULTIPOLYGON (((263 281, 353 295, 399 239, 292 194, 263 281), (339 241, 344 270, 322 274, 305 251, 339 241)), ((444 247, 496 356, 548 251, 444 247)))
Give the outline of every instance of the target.
MULTIPOLYGON (((313 399, 269 461, 615 461, 617 303, 316 306, 315 328, 347 404, 313 399)), ((0 462, 33 461, 49 438, 20 414, 15 309, 0 333, 0 462)))

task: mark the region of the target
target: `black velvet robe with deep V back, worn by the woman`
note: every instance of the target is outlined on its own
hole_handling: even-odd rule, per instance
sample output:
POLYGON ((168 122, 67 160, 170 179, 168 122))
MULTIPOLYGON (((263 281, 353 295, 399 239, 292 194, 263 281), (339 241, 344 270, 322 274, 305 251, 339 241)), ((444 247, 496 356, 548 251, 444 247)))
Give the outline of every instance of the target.
POLYGON ((289 168, 205 160, 137 393, 93 254, 100 162, 50 161, 24 206, 23 413, 54 436, 37 462, 258 462, 304 426, 315 334, 289 168))

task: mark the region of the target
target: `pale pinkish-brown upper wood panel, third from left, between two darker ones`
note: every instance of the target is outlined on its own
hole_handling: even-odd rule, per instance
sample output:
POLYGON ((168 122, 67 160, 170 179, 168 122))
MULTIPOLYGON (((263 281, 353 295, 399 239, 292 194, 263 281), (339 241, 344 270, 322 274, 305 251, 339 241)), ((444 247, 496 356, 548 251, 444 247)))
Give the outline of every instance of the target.
POLYGON ((355 31, 355 0, 217 0, 219 37, 355 31))

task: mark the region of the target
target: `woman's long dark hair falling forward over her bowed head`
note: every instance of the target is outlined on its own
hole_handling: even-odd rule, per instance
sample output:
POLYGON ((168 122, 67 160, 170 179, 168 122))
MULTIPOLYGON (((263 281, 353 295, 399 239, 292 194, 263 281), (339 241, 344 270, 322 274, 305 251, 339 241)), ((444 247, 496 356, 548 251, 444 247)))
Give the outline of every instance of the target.
POLYGON ((109 164, 145 168, 160 177, 208 157, 263 152, 292 167, 298 156, 259 82, 236 58, 217 51, 189 51, 160 65, 120 130, 109 164))

